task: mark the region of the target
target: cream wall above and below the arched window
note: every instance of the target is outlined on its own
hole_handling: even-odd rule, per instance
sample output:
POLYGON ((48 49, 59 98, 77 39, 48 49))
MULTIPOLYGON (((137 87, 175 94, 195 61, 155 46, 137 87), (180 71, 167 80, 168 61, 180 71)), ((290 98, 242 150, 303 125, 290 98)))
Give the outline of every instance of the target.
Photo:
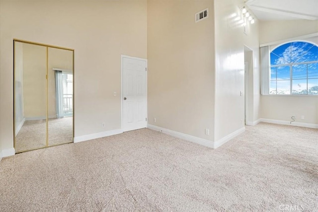
MULTIPOLYGON (((260 43, 271 43, 318 32, 318 21, 288 20, 260 22, 260 43)), ((311 41, 318 44, 318 38, 311 41)), ((278 44, 277 44, 278 45, 278 44)), ((318 124, 318 96, 261 96, 261 118, 318 124), (305 115, 305 120, 301 116, 305 115)))

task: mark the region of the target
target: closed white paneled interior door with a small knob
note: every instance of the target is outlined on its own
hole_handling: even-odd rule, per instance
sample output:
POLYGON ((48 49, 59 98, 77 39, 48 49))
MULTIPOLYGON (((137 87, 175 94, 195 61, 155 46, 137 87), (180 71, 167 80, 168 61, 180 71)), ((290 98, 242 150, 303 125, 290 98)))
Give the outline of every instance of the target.
POLYGON ((147 127, 147 63, 123 57, 123 131, 147 127))

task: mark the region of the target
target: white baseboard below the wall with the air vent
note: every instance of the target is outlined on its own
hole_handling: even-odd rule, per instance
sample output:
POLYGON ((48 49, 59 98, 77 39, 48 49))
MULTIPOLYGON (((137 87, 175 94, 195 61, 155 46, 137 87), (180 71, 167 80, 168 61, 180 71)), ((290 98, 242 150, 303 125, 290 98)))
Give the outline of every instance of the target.
POLYGON ((211 147, 211 148, 213 148, 213 146, 214 146, 213 145, 213 141, 209 141, 209 140, 206 140, 206 139, 201 139, 201 138, 198 138, 198 137, 190 136, 190 135, 187 135, 187 134, 184 134, 184 133, 179 133, 179 132, 176 132, 176 131, 168 130, 168 129, 157 127, 157 126, 150 125, 150 124, 148 124, 147 127, 149 129, 151 129, 151 130, 159 131, 161 133, 164 133, 164 134, 167 134, 167 135, 170 135, 170 136, 174 136, 174 137, 177 137, 179 139, 186 140, 186 141, 191 141, 191 142, 198 143, 198 144, 201 144, 201 145, 204 145, 204 146, 208 146, 208 147, 211 147))

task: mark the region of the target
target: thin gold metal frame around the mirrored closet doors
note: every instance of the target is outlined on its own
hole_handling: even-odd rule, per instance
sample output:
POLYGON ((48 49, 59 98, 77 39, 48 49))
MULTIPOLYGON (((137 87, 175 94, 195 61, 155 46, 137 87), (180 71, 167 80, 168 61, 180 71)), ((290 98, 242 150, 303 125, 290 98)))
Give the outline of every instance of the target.
MULTIPOLYGON (((26 44, 33 44, 33 45, 38 45, 38 46, 44 46, 46 47, 46 146, 45 147, 40 147, 40 148, 46 148, 49 147, 49 127, 48 127, 48 118, 49 118, 49 114, 48 114, 48 65, 49 65, 49 54, 48 54, 48 49, 49 48, 56 48, 56 49, 62 49, 62 50, 69 50, 73 52, 73 94, 75 93, 74 90, 74 49, 71 48, 65 48, 65 47, 59 47, 59 46, 53 46, 53 45, 48 45, 48 44, 42 44, 42 43, 36 43, 36 42, 31 42, 31 41, 25 41, 25 40, 20 40, 20 39, 13 39, 13 148, 15 148, 16 144, 15 144, 15 42, 20 42, 20 43, 26 43, 26 44)), ((73 104, 73 135, 72 135, 72 142, 74 142, 74 114, 75 114, 75 105, 74 105, 74 96, 73 95, 73 100, 72 100, 72 104, 73 104)), ((57 145, 61 145, 61 144, 57 144, 57 145)), ((54 145, 52 145, 54 146, 54 145)), ((31 151, 31 150, 35 150, 35 149, 40 149, 40 148, 34 148, 34 149, 28 149, 25 151, 31 151)), ((21 151, 21 152, 25 152, 25 151, 21 151)), ((15 153, 21 153, 21 152, 15 152, 15 153)))

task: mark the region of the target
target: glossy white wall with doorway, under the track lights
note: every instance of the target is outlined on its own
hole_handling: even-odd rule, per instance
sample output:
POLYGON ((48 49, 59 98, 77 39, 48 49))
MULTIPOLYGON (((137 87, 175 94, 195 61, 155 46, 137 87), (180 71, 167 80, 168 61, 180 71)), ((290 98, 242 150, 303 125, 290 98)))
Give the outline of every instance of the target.
POLYGON ((253 50, 252 70, 253 117, 259 111, 259 41, 258 20, 246 26, 243 33, 240 20, 243 1, 215 0, 215 141, 219 141, 244 127, 244 45, 253 50))

